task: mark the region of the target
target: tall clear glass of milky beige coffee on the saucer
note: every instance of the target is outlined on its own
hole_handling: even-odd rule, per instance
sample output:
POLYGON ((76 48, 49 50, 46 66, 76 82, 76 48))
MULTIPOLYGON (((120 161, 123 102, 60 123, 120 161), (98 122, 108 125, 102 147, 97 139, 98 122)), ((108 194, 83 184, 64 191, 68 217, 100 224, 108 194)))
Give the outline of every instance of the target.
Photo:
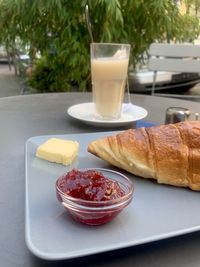
POLYGON ((119 119, 128 72, 130 45, 91 43, 91 78, 95 117, 119 119))

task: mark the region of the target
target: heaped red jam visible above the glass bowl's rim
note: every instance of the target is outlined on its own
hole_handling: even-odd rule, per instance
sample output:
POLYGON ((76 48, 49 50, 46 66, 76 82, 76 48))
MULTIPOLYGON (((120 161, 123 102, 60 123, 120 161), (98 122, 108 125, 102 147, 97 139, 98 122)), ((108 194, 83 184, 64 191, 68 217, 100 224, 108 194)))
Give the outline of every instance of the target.
POLYGON ((67 195, 89 201, 107 201, 124 196, 120 185, 96 170, 73 169, 62 176, 59 189, 67 195))

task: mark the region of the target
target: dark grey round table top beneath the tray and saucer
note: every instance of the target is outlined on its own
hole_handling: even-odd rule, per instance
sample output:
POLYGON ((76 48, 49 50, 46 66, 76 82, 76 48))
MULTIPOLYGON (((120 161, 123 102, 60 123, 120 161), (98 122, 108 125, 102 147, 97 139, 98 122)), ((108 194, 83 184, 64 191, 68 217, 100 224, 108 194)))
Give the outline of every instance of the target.
MULTIPOLYGON (((169 106, 200 111, 200 103, 132 95, 149 112, 146 121, 164 123, 169 106)), ((26 247, 24 234, 24 145, 38 135, 97 132, 66 116, 67 107, 91 101, 89 93, 23 95, 0 99, 0 266, 200 266, 200 232, 67 261, 44 261, 26 247)), ((185 211, 187 213, 187 210, 185 211)), ((197 211, 199 212, 199 210, 197 211)))

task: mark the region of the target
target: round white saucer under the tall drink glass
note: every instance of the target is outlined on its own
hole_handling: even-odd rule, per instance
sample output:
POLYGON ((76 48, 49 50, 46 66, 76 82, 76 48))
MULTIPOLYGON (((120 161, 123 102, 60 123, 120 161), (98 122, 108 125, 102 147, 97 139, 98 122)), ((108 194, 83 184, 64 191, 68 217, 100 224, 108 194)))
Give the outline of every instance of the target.
POLYGON ((147 110, 130 104, 123 104, 122 115, 116 120, 101 120, 94 116, 94 104, 82 103, 68 108, 67 113, 77 120, 80 120, 88 125, 101 127, 119 127, 130 125, 133 122, 145 118, 148 114, 147 110))

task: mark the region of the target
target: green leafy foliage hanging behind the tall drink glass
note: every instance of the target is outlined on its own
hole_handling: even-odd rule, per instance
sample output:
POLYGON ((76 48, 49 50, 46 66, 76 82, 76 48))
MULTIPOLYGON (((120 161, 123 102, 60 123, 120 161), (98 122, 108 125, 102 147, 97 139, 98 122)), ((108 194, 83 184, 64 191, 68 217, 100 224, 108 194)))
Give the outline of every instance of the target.
POLYGON ((199 36, 198 0, 0 0, 0 43, 29 54, 38 92, 90 90, 86 4, 95 42, 131 44, 130 71, 152 42, 199 36))

